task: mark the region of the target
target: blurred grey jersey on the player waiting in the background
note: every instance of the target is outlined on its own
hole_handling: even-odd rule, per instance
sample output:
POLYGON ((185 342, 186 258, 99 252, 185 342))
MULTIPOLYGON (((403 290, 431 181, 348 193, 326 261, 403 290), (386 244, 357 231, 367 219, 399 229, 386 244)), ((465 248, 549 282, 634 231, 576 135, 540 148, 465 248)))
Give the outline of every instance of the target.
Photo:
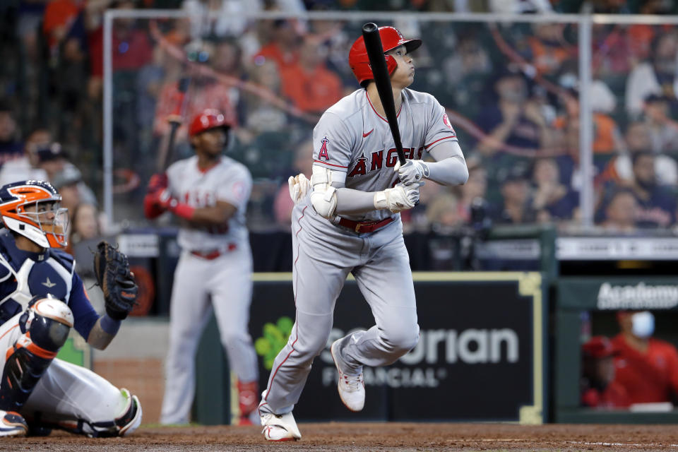
POLYGON ((167 168, 169 193, 194 208, 215 206, 225 201, 237 208, 223 225, 189 226, 179 229, 177 242, 186 251, 225 251, 233 245, 249 244, 245 222, 247 200, 252 189, 249 170, 230 157, 207 170, 198 168, 198 157, 179 160, 167 168))

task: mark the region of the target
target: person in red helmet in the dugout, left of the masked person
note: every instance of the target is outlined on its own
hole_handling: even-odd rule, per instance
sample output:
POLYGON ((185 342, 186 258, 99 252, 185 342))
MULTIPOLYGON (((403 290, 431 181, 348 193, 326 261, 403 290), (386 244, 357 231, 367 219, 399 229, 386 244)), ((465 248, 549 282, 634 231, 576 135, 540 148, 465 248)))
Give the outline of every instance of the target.
POLYGON ((581 405, 590 408, 626 408, 629 396, 614 381, 614 357, 619 352, 605 336, 594 336, 581 346, 581 405))

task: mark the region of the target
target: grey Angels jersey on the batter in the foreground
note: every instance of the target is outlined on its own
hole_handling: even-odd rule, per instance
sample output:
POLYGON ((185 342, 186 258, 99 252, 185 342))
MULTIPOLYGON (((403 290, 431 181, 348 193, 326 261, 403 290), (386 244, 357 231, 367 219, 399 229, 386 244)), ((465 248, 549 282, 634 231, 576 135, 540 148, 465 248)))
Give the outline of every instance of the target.
MULTIPOLYGON (((405 158, 420 160, 445 141, 457 141, 445 109, 430 94, 405 88, 398 115, 405 158)), ((314 165, 346 172, 349 189, 381 191, 399 182, 388 121, 376 112, 367 90, 359 89, 327 109, 313 131, 314 165)), ((373 210, 352 220, 383 220, 390 210, 373 210)), ((346 215, 342 215, 346 216, 346 215)))

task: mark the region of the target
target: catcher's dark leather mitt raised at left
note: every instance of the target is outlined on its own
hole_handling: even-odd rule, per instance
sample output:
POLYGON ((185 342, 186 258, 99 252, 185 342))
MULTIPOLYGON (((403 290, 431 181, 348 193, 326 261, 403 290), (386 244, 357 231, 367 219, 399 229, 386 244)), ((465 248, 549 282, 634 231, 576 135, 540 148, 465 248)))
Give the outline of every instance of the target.
POLYGON ((94 274, 104 292, 108 316, 116 320, 125 319, 136 304, 138 290, 129 271, 127 256, 102 240, 94 251, 94 274))

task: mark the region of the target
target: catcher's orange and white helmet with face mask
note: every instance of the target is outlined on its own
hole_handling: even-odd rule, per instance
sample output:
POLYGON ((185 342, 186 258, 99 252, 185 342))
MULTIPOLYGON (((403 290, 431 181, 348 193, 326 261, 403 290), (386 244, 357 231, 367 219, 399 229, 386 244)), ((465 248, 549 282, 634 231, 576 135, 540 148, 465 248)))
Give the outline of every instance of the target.
POLYGON ((0 217, 9 230, 43 248, 68 244, 69 210, 57 189, 43 181, 13 182, 0 188, 0 217))

